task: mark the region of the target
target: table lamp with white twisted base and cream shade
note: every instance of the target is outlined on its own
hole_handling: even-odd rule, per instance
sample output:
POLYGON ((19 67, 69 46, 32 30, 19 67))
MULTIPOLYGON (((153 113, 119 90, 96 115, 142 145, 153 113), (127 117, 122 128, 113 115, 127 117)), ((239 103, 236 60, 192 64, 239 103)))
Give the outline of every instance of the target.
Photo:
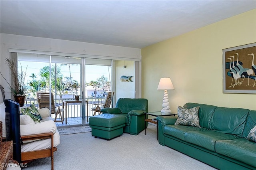
POLYGON ((163 99, 163 109, 161 110, 162 113, 171 113, 169 99, 168 99, 168 92, 167 90, 174 90, 172 85, 172 81, 169 77, 161 78, 157 87, 158 90, 164 90, 164 99, 163 99))

